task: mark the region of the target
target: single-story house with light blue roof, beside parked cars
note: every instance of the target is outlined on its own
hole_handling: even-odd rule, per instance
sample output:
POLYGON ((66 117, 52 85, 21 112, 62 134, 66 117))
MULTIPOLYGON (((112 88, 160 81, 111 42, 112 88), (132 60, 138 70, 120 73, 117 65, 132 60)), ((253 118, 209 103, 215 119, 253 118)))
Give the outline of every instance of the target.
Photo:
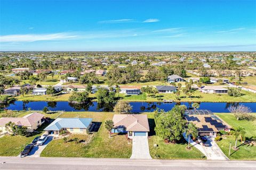
POLYGON ((57 118, 44 131, 48 134, 58 135, 61 131, 66 133, 86 134, 92 125, 92 118, 57 118))

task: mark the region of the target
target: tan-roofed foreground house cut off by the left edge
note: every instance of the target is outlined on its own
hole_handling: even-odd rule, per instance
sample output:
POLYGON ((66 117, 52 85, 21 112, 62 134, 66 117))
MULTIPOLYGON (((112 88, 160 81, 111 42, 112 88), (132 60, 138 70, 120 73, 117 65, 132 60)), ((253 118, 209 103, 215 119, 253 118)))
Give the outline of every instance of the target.
POLYGON ((0 118, 0 130, 3 133, 7 132, 5 125, 12 122, 16 125, 25 126, 28 132, 33 132, 45 122, 44 118, 43 114, 37 112, 30 113, 24 117, 2 117, 0 118))

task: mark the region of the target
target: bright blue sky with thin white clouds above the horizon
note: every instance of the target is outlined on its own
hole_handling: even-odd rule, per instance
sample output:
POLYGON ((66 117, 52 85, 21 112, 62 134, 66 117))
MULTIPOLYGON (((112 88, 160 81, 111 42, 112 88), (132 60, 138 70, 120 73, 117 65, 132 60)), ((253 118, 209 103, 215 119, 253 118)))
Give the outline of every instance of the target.
POLYGON ((255 0, 0 0, 0 50, 255 50, 255 11, 255 0))

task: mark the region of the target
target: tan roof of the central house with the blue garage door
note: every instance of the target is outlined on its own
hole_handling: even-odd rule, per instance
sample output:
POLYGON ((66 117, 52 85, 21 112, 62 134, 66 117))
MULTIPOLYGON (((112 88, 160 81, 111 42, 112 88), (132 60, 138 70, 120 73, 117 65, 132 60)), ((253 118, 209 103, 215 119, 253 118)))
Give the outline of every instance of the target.
POLYGON ((149 132, 148 116, 139 114, 114 115, 114 127, 123 126, 126 131, 147 131, 149 132))

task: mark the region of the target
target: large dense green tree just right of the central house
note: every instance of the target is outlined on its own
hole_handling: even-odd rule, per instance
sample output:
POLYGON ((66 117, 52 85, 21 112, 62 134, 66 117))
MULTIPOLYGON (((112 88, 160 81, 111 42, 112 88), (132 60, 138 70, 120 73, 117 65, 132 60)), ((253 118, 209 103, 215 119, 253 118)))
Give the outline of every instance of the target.
POLYGON ((182 138, 185 124, 181 108, 174 106, 169 112, 157 113, 155 131, 164 140, 176 142, 182 138))

